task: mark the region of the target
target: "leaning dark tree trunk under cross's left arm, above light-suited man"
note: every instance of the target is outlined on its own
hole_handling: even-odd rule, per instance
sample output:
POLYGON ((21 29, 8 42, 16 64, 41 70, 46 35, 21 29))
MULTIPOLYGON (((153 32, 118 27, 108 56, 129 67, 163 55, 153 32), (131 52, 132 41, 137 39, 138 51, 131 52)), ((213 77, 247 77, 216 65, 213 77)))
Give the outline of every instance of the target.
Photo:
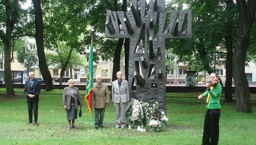
POLYGON ((124 38, 119 38, 117 47, 114 50, 112 81, 117 80, 117 72, 120 71, 120 60, 121 60, 120 55, 121 55, 123 43, 124 43, 124 38))

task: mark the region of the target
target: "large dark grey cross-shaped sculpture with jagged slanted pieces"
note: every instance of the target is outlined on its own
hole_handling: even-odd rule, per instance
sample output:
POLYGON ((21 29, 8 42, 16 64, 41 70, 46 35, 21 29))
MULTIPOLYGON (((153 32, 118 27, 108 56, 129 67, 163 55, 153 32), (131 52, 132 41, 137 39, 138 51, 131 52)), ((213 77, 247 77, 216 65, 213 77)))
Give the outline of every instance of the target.
POLYGON ((191 10, 168 14, 164 0, 150 0, 149 8, 145 0, 133 0, 130 9, 107 10, 105 37, 130 38, 130 97, 157 101, 165 110, 165 39, 192 36, 191 10))

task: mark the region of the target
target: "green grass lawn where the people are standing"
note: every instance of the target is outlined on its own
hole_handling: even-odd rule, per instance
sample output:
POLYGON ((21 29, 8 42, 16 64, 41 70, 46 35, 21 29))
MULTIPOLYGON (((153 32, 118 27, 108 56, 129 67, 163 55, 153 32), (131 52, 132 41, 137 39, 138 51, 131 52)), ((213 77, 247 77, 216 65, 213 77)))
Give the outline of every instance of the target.
MULTIPOLYGON (((206 104, 205 100, 197 101, 199 94, 167 94, 167 129, 143 133, 136 129, 114 128, 112 103, 105 111, 104 128, 93 129, 92 116, 87 113, 84 102, 82 117, 76 120, 78 129, 67 130, 61 90, 42 90, 40 126, 35 127, 27 124, 27 103, 22 91, 15 89, 18 96, 14 99, 0 96, 0 144, 201 144, 206 104)), ((84 98, 85 92, 80 93, 84 98)), ((255 111, 256 102, 252 103, 255 111)), ((219 144, 255 144, 256 114, 236 112, 235 103, 221 101, 221 107, 219 144)))

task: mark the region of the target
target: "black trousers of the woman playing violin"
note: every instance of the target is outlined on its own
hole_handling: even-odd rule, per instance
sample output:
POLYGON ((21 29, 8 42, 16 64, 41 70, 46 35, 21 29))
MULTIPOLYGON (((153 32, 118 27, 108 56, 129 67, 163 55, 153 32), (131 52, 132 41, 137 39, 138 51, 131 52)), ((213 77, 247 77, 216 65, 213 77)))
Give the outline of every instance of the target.
POLYGON ((202 144, 218 144, 220 109, 208 109, 204 117, 202 144))

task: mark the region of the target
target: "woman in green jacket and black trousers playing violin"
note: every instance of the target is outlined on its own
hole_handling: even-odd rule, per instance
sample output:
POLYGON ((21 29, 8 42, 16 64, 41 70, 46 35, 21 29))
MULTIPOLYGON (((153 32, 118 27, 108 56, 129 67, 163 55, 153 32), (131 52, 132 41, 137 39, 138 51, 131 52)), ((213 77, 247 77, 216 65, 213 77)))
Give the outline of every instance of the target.
POLYGON ((204 117, 202 144, 217 144, 219 141, 220 97, 222 87, 219 76, 210 74, 210 83, 206 84, 207 90, 198 96, 199 100, 206 98, 206 115, 204 117))

